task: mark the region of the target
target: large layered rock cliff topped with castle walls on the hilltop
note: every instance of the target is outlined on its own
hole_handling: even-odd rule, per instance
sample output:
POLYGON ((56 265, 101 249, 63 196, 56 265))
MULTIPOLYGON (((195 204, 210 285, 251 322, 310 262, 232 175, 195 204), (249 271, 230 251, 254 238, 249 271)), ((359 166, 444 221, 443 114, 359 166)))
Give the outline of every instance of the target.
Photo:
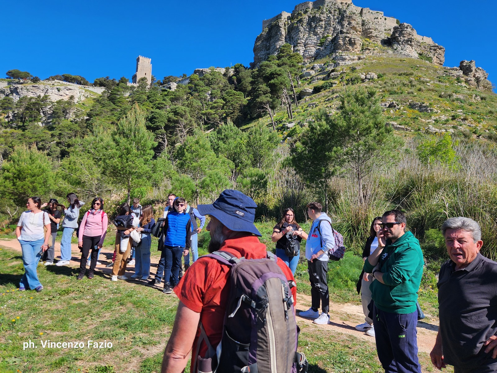
POLYGON ((355 6, 351 0, 316 0, 298 4, 292 13, 282 12, 264 20, 251 65, 275 55, 285 43, 307 62, 330 54, 367 54, 364 39, 440 66, 445 61, 445 48, 418 35, 410 24, 386 17, 382 11, 355 6))

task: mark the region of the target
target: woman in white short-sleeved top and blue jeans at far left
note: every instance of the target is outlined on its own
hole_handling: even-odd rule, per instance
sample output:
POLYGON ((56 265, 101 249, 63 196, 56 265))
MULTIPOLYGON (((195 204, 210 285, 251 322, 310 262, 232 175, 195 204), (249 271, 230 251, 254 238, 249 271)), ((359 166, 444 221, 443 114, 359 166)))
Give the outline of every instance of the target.
POLYGON ((19 283, 19 290, 24 291, 29 287, 31 290, 40 292, 43 285, 38 280, 36 267, 43 252, 48 249, 50 218, 45 211, 40 209, 40 197, 29 197, 26 207, 28 210, 21 214, 17 228, 15 228, 15 235, 22 248, 22 264, 25 271, 19 283))

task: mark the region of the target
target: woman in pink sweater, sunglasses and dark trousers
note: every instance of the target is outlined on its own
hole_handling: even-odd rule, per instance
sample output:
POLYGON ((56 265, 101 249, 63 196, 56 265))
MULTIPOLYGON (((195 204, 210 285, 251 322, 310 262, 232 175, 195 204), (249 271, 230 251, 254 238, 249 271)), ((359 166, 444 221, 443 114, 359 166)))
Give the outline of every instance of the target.
POLYGON ((91 208, 83 215, 78 246, 81 248, 80 274, 78 280, 83 280, 86 273, 86 261, 91 250, 90 270, 88 279, 93 279, 96 261, 98 259, 98 249, 103 245, 105 233, 107 233, 107 214, 103 211, 103 199, 96 197, 91 201, 91 208))

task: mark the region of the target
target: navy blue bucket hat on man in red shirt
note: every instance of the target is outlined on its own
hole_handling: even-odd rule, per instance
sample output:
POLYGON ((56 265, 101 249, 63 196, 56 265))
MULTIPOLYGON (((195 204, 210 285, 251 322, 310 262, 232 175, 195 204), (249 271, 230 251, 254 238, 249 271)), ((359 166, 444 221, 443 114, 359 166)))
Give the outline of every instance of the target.
POLYGON ((236 232, 249 232, 262 236, 253 221, 257 205, 252 198, 234 189, 226 189, 219 194, 212 204, 199 204, 197 210, 201 215, 211 215, 228 229, 236 232))

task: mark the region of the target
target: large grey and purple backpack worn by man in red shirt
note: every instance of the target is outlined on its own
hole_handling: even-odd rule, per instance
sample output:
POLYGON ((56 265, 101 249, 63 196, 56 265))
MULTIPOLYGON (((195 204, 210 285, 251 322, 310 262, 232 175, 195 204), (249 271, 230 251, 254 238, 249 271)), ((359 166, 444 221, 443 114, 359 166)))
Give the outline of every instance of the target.
POLYGON ((200 324, 197 364, 194 373, 296 373, 307 372, 304 354, 297 353, 298 326, 295 322, 291 287, 274 254, 263 259, 245 259, 226 251, 205 257, 231 267, 228 304, 223 337, 212 347, 200 324), (205 357, 198 356, 207 344, 205 357))

